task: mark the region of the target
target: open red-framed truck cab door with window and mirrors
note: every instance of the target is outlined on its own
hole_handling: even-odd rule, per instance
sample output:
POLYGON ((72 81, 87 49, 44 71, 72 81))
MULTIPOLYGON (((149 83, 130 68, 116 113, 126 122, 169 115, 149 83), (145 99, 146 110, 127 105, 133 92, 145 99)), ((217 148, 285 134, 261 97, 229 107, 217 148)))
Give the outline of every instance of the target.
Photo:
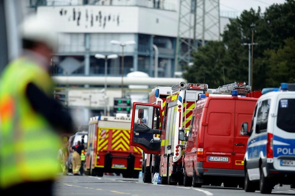
POLYGON ((130 129, 130 145, 148 154, 160 154, 161 139, 156 135, 162 124, 161 106, 149 103, 133 103, 130 129))

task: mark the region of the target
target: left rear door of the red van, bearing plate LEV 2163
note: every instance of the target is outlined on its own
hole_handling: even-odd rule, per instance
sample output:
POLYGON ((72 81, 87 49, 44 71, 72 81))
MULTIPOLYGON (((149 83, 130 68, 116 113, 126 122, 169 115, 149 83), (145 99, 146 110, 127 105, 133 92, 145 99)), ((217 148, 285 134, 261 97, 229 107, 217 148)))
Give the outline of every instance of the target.
POLYGON ((235 100, 209 100, 204 133, 204 168, 232 169, 235 100))

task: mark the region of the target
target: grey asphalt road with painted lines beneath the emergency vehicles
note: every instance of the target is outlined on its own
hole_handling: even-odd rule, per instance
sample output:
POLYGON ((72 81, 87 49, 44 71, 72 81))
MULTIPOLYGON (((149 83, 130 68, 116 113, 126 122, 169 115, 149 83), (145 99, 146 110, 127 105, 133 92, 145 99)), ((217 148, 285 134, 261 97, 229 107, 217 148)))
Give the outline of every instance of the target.
MULTIPOLYGON (((142 182, 142 178, 122 178, 120 176, 60 176, 55 182, 54 192, 57 196, 67 195, 132 195, 132 196, 183 196, 183 195, 261 195, 259 191, 246 193, 240 188, 202 186, 201 188, 153 185, 142 182)), ((295 195, 290 185, 278 185, 272 195, 295 195)))

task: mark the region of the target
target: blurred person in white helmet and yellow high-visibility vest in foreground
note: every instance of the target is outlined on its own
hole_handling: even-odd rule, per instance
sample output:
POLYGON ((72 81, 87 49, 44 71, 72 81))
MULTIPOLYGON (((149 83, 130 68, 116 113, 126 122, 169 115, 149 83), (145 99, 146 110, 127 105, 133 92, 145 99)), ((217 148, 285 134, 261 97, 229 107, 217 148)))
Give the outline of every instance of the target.
POLYGON ((30 16, 21 31, 24 55, 0 78, 0 195, 52 195, 60 171, 57 133, 72 119, 52 97, 49 62, 57 45, 52 19, 30 16))

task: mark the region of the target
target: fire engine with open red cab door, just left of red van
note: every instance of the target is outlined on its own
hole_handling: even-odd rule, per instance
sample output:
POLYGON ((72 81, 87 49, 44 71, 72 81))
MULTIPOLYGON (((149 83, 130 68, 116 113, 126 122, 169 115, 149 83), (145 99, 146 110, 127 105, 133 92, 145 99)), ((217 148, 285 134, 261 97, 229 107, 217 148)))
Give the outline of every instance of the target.
POLYGON ((133 103, 130 145, 147 154, 160 156, 161 184, 183 184, 182 144, 178 140, 179 127, 189 130, 192 111, 207 84, 179 83, 172 86, 166 97, 164 116, 161 105, 133 103), (161 137, 156 137, 160 134, 161 137))

